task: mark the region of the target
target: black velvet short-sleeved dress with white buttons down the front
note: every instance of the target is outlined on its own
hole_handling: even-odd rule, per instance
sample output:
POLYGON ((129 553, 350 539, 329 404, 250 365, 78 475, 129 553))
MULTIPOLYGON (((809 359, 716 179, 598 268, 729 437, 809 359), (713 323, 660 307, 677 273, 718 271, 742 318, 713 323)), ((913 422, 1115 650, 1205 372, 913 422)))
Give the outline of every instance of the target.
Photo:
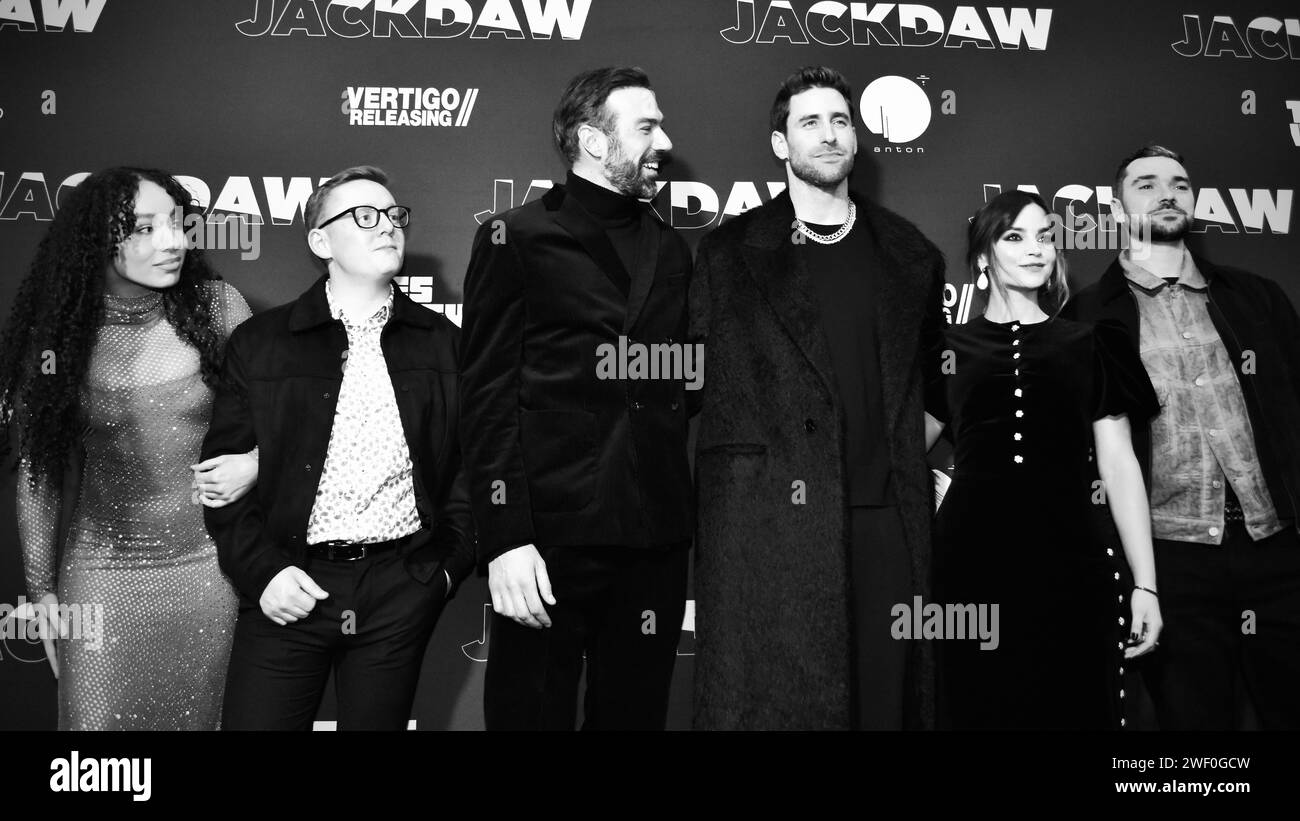
POLYGON ((1141 360, 1122 330, 1061 318, 952 326, 942 356, 927 410, 948 425, 956 474, 935 603, 998 608, 994 648, 936 642, 940 726, 1118 727, 1130 609, 1089 462, 1095 420, 1158 410, 1141 360))

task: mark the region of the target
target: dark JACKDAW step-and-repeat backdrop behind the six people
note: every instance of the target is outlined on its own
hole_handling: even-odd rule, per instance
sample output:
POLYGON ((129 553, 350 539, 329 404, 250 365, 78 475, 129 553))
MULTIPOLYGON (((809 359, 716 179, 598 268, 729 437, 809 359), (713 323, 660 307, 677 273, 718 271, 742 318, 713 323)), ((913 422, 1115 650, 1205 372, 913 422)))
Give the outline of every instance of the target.
MULTIPOLYGON (((459 322, 476 226, 563 179, 551 109, 575 73, 611 64, 651 77, 675 143, 654 207, 692 246, 781 191, 768 107, 790 70, 827 64, 858 97, 854 187, 945 251, 954 321, 980 309, 959 260, 987 197, 1039 191, 1066 222, 1074 284, 1091 283, 1119 239, 1115 164, 1149 140, 1187 157, 1193 247, 1300 300, 1297 61, 1283 0, 0 0, 0 309, 70 187, 124 164, 181 177, 208 209, 191 238, 256 310, 287 301, 317 277, 307 196, 374 164, 413 212, 404 287, 459 322)), ((23 595, 13 498, 5 470, 0 613, 23 595)), ((476 579, 443 614, 417 727, 482 726, 489 607, 476 579)), ((52 727, 55 681, 17 624, 0 626, 0 729, 52 727)))

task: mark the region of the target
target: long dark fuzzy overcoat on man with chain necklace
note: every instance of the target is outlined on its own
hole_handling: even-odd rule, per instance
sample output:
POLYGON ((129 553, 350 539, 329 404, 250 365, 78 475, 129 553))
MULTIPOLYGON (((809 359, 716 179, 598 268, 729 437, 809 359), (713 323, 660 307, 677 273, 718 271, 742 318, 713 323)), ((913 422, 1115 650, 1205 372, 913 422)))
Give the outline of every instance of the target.
MULTIPOLYGON (((944 261, 910 222, 853 200, 880 249, 878 301, 862 309, 876 312, 893 487, 913 588, 928 600, 923 372, 944 322, 944 261)), ((842 408, 816 294, 792 252, 793 221, 788 194, 731 220, 701 243, 692 281, 690 336, 706 362, 696 449, 702 729, 849 726, 842 408)), ((911 669, 906 724, 932 726, 928 647, 914 646, 911 669)))

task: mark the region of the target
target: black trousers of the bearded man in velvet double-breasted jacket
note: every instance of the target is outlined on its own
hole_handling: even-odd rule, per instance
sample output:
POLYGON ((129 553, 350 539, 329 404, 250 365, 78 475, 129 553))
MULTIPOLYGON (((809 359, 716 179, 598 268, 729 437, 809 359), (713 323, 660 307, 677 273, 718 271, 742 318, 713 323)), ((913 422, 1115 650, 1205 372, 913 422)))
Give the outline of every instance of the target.
POLYGON ((686 549, 543 547, 550 627, 493 614, 489 730, 663 730, 686 607, 686 549))

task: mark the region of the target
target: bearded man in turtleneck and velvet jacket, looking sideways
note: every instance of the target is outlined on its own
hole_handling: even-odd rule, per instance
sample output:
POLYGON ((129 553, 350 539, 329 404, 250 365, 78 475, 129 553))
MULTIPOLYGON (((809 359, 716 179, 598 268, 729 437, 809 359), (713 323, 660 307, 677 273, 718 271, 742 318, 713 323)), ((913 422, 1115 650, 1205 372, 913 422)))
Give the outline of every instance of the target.
MULTIPOLYGON (((585 71, 555 109, 571 171, 484 223, 465 274, 460 433, 495 614, 489 730, 664 727, 692 535, 690 252, 642 201, 672 142, 640 69, 585 71)), ((697 361, 697 357, 692 357, 697 361)))

